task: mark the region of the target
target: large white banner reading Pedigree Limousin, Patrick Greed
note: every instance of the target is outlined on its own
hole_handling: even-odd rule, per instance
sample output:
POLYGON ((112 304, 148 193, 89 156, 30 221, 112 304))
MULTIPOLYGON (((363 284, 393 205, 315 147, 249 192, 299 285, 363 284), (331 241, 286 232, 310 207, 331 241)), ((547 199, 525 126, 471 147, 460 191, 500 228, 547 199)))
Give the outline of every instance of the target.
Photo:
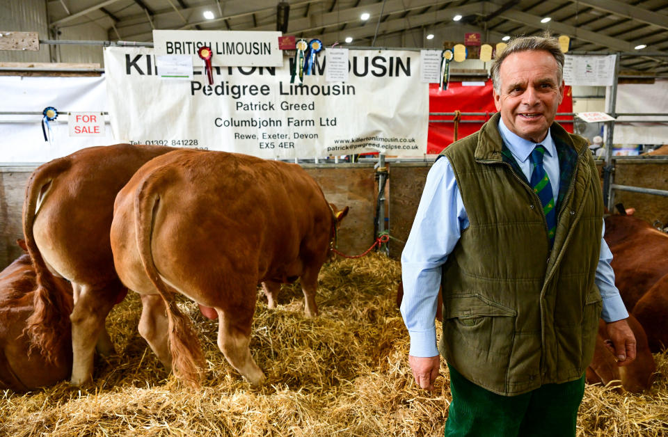
POLYGON ((118 141, 252 154, 266 159, 427 151, 429 85, 420 54, 350 51, 349 80, 327 82, 326 50, 316 74, 291 83, 283 67, 202 68, 193 81, 161 81, 154 51, 106 47, 109 114, 118 141))

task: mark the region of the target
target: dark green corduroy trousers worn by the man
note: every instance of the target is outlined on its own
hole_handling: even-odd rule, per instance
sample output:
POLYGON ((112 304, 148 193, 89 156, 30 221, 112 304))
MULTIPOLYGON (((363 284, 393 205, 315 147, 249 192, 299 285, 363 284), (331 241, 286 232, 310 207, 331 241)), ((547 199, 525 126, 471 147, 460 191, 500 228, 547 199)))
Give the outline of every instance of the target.
POLYGON ((574 437, 582 378, 501 396, 468 381, 450 365, 452 403, 445 437, 574 437))

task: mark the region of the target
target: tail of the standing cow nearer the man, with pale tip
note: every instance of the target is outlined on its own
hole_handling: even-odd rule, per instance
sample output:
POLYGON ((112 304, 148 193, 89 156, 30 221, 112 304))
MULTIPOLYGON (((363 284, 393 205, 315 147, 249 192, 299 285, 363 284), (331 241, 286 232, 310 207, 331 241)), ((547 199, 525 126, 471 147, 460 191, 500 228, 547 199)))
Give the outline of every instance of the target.
POLYGON ((148 177, 136 191, 134 198, 137 248, 146 274, 156 287, 167 307, 169 321, 169 348, 174 374, 194 387, 200 385, 201 369, 205 363, 198 337, 189 317, 176 304, 177 291, 167 285, 157 271, 151 250, 154 214, 160 196, 152 189, 154 178, 148 177))

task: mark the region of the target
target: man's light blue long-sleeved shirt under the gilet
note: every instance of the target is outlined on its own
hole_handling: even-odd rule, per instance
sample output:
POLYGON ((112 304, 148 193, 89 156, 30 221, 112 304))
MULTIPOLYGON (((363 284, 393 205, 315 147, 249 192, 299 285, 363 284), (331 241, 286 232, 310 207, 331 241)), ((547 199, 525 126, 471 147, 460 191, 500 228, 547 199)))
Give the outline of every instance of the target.
MULTIPOLYGON (((529 155, 536 143, 510 132, 502 121, 499 122, 499 132, 527 180, 531 180, 529 155)), ((551 134, 541 144, 546 148, 543 168, 550 178, 552 193, 558 193, 559 158, 551 134)), ((450 161, 446 157, 438 159, 427 175, 413 228, 401 253, 401 277, 404 281, 401 315, 411 335, 409 353, 412 356, 438 355, 434 318, 441 267, 459 241, 461 231, 466 228, 468 215, 450 161)), ((628 317, 619 290, 614 286, 611 261, 612 252, 601 236, 601 255, 595 282, 603 298, 601 317, 608 322, 628 317)))

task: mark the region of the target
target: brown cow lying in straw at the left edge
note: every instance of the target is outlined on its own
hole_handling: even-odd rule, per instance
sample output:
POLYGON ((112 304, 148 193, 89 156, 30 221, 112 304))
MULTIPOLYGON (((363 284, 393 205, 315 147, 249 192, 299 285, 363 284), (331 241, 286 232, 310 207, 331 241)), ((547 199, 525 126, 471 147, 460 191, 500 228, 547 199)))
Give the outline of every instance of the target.
MULTIPOLYGON (((54 286, 65 310, 72 308, 72 287, 58 278, 54 286)), ((70 326, 65 325, 63 331, 54 333, 50 355, 55 363, 39 351, 31 351, 31 341, 23 332, 34 310, 36 287, 35 270, 28 255, 21 255, 0 272, 0 390, 24 392, 51 386, 70 376, 70 326)))

